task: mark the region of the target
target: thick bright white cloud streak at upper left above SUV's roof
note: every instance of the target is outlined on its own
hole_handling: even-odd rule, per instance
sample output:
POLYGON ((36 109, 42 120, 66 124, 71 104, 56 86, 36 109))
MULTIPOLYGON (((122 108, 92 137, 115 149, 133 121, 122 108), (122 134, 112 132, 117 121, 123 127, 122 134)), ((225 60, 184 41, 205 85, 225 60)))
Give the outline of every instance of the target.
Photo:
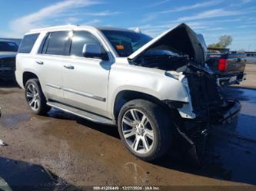
MULTIPOLYGON (((66 0, 58 2, 42 8, 38 12, 34 12, 11 21, 10 28, 14 33, 13 35, 22 35, 32 28, 45 26, 46 24, 44 21, 46 19, 55 18, 55 15, 62 14, 70 9, 88 7, 98 3, 99 2, 92 0, 66 0)), ((75 18, 71 18, 71 20, 74 21, 75 18)))

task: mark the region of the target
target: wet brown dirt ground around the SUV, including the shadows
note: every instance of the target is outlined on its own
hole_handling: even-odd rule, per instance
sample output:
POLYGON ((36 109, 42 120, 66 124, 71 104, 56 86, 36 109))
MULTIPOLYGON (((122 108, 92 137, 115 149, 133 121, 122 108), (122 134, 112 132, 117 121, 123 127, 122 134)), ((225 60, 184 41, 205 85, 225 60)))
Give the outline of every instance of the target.
POLYGON ((55 190, 103 185, 256 190, 251 187, 256 185, 256 90, 239 88, 256 87, 256 65, 246 69, 247 81, 225 90, 241 100, 242 110, 233 123, 211 128, 201 166, 171 151, 154 163, 138 160, 125 149, 116 127, 55 109, 48 116, 36 116, 22 89, 2 83, 0 139, 8 146, 0 147, 0 190, 1 177, 13 190, 38 185, 51 190, 56 185, 55 190))

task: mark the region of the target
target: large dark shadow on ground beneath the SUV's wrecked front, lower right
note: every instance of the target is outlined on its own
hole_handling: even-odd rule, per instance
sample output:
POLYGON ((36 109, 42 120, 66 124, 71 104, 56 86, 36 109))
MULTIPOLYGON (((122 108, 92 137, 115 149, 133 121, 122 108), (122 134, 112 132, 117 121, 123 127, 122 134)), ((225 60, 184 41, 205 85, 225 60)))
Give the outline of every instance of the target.
MULTIPOLYGON (((251 116, 240 117, 247 120, 251 116)), ((238 117, 233 123, 211 127, 200 165, 193 165, 189 153, 170 154, 154 164, 199 176, 256 185, 256 137, 247 137, 240 132, 243 127, 237 126, 241 126, 244 120, 239 120, 238 117)), ((256 118, 250 123, 256 123, 256 118)))

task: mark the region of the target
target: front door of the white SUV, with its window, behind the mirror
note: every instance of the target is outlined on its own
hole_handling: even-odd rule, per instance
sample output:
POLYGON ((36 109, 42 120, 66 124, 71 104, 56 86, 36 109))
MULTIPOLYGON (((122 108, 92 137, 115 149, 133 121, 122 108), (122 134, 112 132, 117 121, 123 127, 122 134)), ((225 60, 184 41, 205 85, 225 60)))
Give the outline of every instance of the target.
POLYGON ((106 115, 108 74, 113 62, 103 61, 100 58, 85 58, 82 54, 84 44, 101 44, 105 49, 102 41, 91 32, 74 32, 71 56, 65 61, 66 64, 62 69, 65 103, 82 110, 106 115))

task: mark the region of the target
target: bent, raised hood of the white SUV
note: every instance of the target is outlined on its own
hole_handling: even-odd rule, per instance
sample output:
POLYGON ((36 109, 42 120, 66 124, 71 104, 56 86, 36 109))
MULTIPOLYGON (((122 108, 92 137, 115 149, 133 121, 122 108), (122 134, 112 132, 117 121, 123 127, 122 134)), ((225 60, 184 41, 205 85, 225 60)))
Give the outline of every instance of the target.
POLYGON ((201 65, 205 63, 207 47, 204 43, 204 38, 202 35, 197 35, 184 23, 152 39, 132 53, 128 59, 130 61, 136 61, 140 55, 149 49, 158 47, 170 47, 183 54, 188 54, 191 61, 201 65))

